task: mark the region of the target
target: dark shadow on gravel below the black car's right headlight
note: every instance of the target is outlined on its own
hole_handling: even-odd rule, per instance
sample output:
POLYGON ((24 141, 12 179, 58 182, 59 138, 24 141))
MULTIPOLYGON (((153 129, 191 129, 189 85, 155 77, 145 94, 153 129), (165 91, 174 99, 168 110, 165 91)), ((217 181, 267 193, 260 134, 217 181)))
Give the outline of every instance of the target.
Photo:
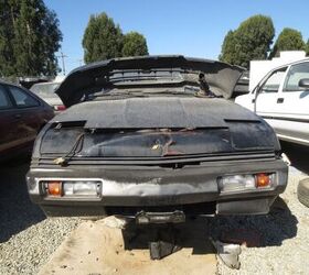
MULTIPOLYGON (((260 237, 260 241, 253 246, 281 245, 283 241, 296 237, 297 223, 297 218, 280 197, 276 199, 270 212, 266 216, 231 216, 209 219, 210 234, 214 239, 221 239, 222 234, 228 235, 230 232, 237 230, 254 232, 260 237)), ((251 241, 244 237, 244 242, 251 243, 251 241)))

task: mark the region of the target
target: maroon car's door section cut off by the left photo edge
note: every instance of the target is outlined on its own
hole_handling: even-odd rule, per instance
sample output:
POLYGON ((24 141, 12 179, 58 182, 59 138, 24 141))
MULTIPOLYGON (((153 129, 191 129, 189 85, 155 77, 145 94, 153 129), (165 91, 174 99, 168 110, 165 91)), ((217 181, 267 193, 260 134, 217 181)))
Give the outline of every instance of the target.
POLYGON ((17 110, 6 89, 0 84, 0 153, 19 144, 17 110))

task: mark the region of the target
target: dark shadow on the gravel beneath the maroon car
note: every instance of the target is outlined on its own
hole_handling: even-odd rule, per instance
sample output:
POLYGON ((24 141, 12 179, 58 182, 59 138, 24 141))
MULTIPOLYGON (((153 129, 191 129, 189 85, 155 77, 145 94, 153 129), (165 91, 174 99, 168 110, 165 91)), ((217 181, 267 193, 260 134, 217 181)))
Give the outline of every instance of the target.
POLYGON ((43 211, 29 199, 25 184, 29 163, 22 157, 0 166, 0 243, 45 219, 43 211))

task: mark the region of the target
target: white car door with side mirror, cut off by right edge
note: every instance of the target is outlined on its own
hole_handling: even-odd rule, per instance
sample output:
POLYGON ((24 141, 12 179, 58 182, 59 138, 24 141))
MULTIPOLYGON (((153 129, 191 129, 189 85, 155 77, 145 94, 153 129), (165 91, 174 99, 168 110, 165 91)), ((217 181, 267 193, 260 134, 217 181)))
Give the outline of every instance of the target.
POLYGON ((309 89, 299 80, 309 79, 309 62, 289 67, 280 91, 277 134, 280 139, 309 145, 309 89))

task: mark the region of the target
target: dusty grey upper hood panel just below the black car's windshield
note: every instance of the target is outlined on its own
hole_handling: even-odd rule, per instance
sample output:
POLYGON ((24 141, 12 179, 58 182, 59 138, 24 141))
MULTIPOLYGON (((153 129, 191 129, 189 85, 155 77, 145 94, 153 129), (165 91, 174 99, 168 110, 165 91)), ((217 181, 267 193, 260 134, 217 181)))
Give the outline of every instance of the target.
POLYGON ((150 97, 84 102, 53 122, 86 121, 88 129, 227 128, 226 120, 259 122, 247 109, 225 99, 150 97))

